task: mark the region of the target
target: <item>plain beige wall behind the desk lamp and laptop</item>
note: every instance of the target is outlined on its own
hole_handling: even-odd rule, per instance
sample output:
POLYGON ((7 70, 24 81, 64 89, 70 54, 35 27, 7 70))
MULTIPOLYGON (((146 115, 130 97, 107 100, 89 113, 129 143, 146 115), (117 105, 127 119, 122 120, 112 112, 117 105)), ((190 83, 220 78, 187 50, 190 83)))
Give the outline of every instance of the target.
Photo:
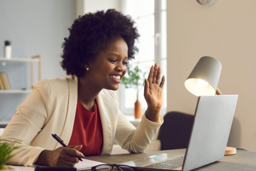
POLYGON ((198 59, 222 64, 218 88, 239 94, 228 145, 256 151, 256 1, 167 0, 167 110, 193 114, 197 97, 184 87, 198 59))

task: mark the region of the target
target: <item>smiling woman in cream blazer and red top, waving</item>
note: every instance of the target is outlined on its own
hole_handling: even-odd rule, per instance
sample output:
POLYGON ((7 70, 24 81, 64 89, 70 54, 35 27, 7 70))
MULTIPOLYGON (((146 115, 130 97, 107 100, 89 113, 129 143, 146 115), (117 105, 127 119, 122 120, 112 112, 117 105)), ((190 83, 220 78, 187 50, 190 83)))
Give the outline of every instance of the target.
POLYGON ((110 154, 114 141, 130 152, 143 152, 163 123, 163 76, 150 68, 144 96, 148 109, 137 129, 118 109, 112 90, 119 88, 134 59, 139 38, 134 21, 114 9, 79 17, 63 43, 61 66, 67 78, 42 80, 17 107, 2 142, 19 142, 15 165, 74 166, 78 157, 110 154), (56 134, 70 148, 62 147, 56 134))

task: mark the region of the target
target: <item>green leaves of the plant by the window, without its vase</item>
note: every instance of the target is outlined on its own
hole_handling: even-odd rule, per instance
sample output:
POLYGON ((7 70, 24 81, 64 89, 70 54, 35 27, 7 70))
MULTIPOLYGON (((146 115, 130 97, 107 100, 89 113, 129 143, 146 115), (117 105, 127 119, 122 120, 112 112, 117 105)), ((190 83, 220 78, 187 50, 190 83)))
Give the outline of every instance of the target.
POLYGON ((125 85, 125 88, 136 88, 138 92, 139 87, 145 85, 145 74, 136 66, 128 70, 125 76, 122 77, 121 83, 125 85))

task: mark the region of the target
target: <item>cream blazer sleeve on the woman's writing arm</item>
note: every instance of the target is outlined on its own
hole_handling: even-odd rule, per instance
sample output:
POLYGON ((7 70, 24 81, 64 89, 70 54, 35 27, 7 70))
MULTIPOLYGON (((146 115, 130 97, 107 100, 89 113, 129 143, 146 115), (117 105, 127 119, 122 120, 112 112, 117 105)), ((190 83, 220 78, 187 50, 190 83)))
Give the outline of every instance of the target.
POLYGON ((35 166, 35 161, 44 149, 30 146, 30 143, 47 120, 48 100, 49 84, 39 81, 32 93, 17 107, 17 112, 1 135, 1 143, 14 142, 15 146, 20 147, 13 151, 12 154, 15 155, 9 160, 9 164, 35 166))

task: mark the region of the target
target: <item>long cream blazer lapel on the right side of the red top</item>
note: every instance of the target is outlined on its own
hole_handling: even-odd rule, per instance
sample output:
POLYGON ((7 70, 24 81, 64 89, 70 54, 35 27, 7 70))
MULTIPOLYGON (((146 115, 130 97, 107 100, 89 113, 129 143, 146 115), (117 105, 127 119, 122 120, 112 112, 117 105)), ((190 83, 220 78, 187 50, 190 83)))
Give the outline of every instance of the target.
POLYGON ((110 154, 112 150, 113 135, 112 135, 111 123, 109 121, 108 113, 100 93, 96 97, 96 101, 99 107, 99 114, 100 114, 100 119, 102 123, 102 132, 103 132, 103 148, 102 148, 101 154, 110 154))

